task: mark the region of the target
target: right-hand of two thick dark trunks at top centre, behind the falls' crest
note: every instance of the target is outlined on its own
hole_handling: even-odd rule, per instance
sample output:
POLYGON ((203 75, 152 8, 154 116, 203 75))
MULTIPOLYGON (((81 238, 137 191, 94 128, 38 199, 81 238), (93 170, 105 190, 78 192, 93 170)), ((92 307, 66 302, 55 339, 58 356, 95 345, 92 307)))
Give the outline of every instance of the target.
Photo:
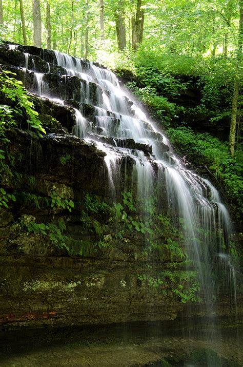
POLYGON ((138 44, 143 42, 144 33, 144 8, 142 0, 137 0, 135 18, 132 20, 132 48, 137 50, 138 44))

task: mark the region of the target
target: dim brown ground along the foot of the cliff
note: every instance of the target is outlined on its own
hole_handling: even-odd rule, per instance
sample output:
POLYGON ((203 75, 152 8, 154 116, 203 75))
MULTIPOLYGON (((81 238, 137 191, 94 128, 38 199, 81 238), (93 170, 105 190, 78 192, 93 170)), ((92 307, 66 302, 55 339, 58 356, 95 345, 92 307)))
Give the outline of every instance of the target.
MULTIPOLYGON (((19 341, 17 344, 6 344, 0 353, 1 367, 125 367, 125 366, 161 366, 161 359, 169 360, 172 365, 182 366, 176 362, 183 360, 193 350, 213 349, 223 357, 238 365, 243 359, 239 338, 230 330, 221 333, 220 337, 209 341, 199 336, 161 336, 106 333, 105 330, 92 335, 66 335, 61 340, 19 341)), ((159 333, 160 334, 160 333, 159 333)), ((240 334, 240 333, 239 333, 240 334)), ((241 333, 242 336, 242 333, 241 333)), ((3 344, 2 344, 3 347, 3 344)), ((227 364, 231 365, 231 364, 227 364)), ((232 364, 234 365, 234 364, 232 364)), ((214 367, 217 367, 216 365, 214 367)))

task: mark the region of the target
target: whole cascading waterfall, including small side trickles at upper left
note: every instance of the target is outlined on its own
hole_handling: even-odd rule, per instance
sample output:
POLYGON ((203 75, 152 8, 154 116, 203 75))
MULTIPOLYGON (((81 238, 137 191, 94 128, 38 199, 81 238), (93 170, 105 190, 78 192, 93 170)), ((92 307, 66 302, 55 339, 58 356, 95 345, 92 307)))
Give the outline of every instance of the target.
MULTIPOLYGON (((29 55, 25 54, 25 57, 27 69, 31 63, 29 55)), ((73 93, 73 98, 81 104, 93 104, 92 122, 83 116, 82 108, 75 109, 73 133, 106 153, 106 175, 112 199, 115 200, 119 191, 125 188, 126 177, 122 177, 120 168, 122 162, 125 162, 125 176, 126 162, 132 162, 130 186, 134 196, 149 199, 155 186, 163 186, 158 191, 160 205, 159 199, 164 200, 166 188, 168 214, 183 231, 188 256, 198 272, 202 301, 210 319, 208 323, 212 322, 215 314, 213 263, 217 253, 221 254, 221 262, 229 269, 230 286, 234 287, 234 292, 236 289, 235 272, 227 255, 222 255, 224 246, 228 247, 231 222, 217 190, 208 180, 183 165, 168 139, 131 101, 130 94, 120 87, 111 71, 57 51, 55 57, 57 65, 65 70, 66 76, 62 75, 64 83, 67 76, 79 78, 79 97, 77 99, 73 93)), ((49 63, 48 68, 50 72, 49 63)), ((57 101, 60 99, 63 103, 65 94, 50 95, 48 85, 43 81, 45 74, 35 72, 34 75, 31 91, 57 98, 57 101)), ((148 217, 148 213, 145 215, 148 217)))

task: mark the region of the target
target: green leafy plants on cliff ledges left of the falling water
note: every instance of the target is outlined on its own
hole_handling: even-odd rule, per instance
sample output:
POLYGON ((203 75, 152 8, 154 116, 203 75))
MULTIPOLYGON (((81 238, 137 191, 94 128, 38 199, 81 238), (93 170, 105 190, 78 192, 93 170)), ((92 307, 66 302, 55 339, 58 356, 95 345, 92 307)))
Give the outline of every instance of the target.
MULTIPOLYGON (((24 203, 28 206, 35 206, 36 208, 42 208, 42 205, 49 206, 52 210, 65 210, 70 212, 74 208, 72 200, 65 199, 63 196, 57 195, 55 191, 51 192, 50 197, 44 198, 30 194, 29 192, 21 192, 16 194, 18 202, 24 200, 24 203)), ((101 220, 95 219, 93 216, 102 216, 105 211, 108 210, 108 205, 104 202, 99 203, 95 195, 86 193, 84 195, 84 206, 86 210, 82 210, 80 213, 80 228, 82 228, 82 234, 93 233, 97 236, 96 241, 88 240, 75 240, 70 236, 67 236, 67 227, 64 219, 55 220, 48 223, 37 223, 35 221, 29 221, 25 224, 28 233, 38 234, 46 237, 54 246, 60 249, 65 249, 69 255, 90 256, 97 250, 103 250, 110 247, 110 244, 104 240, 105 226, 101 220)), ((78 204, 76 205, 76 209, 78 204)))

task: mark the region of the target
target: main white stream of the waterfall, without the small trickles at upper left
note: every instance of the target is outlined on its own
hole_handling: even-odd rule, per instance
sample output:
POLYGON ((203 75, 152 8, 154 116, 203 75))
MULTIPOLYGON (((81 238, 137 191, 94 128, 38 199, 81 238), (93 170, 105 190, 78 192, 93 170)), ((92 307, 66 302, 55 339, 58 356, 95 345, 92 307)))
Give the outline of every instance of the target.
MULTIPOLYGON (((117 191, 117 186, 119 187, 120 165, 124 157, 134 162, 131 181, 136 195, 149 198, 153 194, 157 180, 166 183, 169 213, 172 218, 177 215, 184 223, 182 227, 187 251, 198 269, 204 300, 208 304, 207 313, 212 315, 214 313, 212 298, 215 296, 215 289, 211 258, 215 253, 222 251, 225 239, 231 231, 228 211, 221 203, 217 190, 208 180, 198 177, 196 173, 181 164, 169 141, 147 119, 139 106, 130 101, 130 95, 120 87, 112 72, 96 67, 92 63, 86 64, 84 70, 82 61, 58 52, 55 54, 58 65, 65 67, 69 74, 78 76, 86 72, 87 81, 102 87, 103 99, 97 98, 100 102, 95 107, 94 122, 102 129, 100 135, 130 138, 137 143, 152 146, 153 153, 146 155, 140 150, 114 148, 102 142, 95 143, 106 153, 107 177, 113 195, 117 191), (114 124, 114 118, 119 122, 114 124), (168 145, 168 152, 161 152, 161 141, 168 145), (157 166, 157 173, 154 171, 153 164, 157 166), (206 264, 206 272, 201 267, 202 262, 206 264)), ((88 90, 85 93, 85 98, 80 102, 90 101, 88 90)), ((84 118, 80 118, 79 132, 74 130, 77 136, 84 138, 92 131, 92 125, 88 125, 84 118)), ((90 141, 90 137, 87 141, 90 141)), ((92 141, 95 141, 95 138, 92 141)))

